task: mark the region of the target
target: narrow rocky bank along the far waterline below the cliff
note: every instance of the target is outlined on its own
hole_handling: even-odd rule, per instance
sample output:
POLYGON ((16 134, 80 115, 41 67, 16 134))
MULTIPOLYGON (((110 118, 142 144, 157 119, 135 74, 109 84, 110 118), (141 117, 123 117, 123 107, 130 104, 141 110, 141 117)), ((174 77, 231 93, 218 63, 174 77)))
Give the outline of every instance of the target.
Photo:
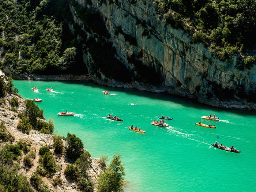
MULTIPOLYGON (((196 97, 195 95, 189 93, 186 89, 182 91, 177 91, 171 87, 157 87, 153 85, 145 85, 140 82, 131 82, 131 83, 121 83, 114 79, 107 79, 103 81, 102 79, 97 78, 97 76, 86 75, 72 75, 72 74, 62 74, 62 75, 37 75, 37 74, 23 74, 18 76, 17 74, 7 73, 8 76, 11 76, 14 79, 18 80, 80 80, 80 81, 91 81, 100 85, 105 85, 109 87, 121 87, 128 89, 137 89, 140 91, 150 91, 153 93, 167 93, 170 95, 181 96, 183 98, 189 98, 195 102, 203 103, 205 105, 214 106, 217 108, 225 109, 239 109, 239 110, 253 110, 256 111, 256 103, 247 102, 246 99, 234 98, 232 100, 220 101, 217 98, 212 98, 205 100, 201 98, 200 95, 196 97)), ((0 74, 1 75, 1 74, 0 74)), ((2 75, 3 76, 3 75, 2 75)))

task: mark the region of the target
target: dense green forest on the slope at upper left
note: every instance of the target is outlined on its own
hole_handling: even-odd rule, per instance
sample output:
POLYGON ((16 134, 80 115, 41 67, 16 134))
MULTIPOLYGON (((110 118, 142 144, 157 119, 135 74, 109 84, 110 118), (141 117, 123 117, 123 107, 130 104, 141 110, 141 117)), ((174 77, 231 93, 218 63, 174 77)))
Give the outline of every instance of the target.
POLYGON ((85 73, 77 42, 61 16, 67 6, 61 0, 0 0, 1 66, 18 73, 85 73))

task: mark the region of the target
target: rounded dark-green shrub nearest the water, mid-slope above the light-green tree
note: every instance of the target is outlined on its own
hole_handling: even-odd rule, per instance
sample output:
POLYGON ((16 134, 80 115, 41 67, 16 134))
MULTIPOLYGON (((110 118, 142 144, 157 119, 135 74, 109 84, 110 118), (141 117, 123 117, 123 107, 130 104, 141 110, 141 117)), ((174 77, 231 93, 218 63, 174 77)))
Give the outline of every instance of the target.
POLYGON ((66 147, 66 156, 69 159, 74 159, 75 161, 83 153, 82 140, 77 138, 75 134, 71 135, 70 133, 68 133, 66 140, 68 142, 66 147))

